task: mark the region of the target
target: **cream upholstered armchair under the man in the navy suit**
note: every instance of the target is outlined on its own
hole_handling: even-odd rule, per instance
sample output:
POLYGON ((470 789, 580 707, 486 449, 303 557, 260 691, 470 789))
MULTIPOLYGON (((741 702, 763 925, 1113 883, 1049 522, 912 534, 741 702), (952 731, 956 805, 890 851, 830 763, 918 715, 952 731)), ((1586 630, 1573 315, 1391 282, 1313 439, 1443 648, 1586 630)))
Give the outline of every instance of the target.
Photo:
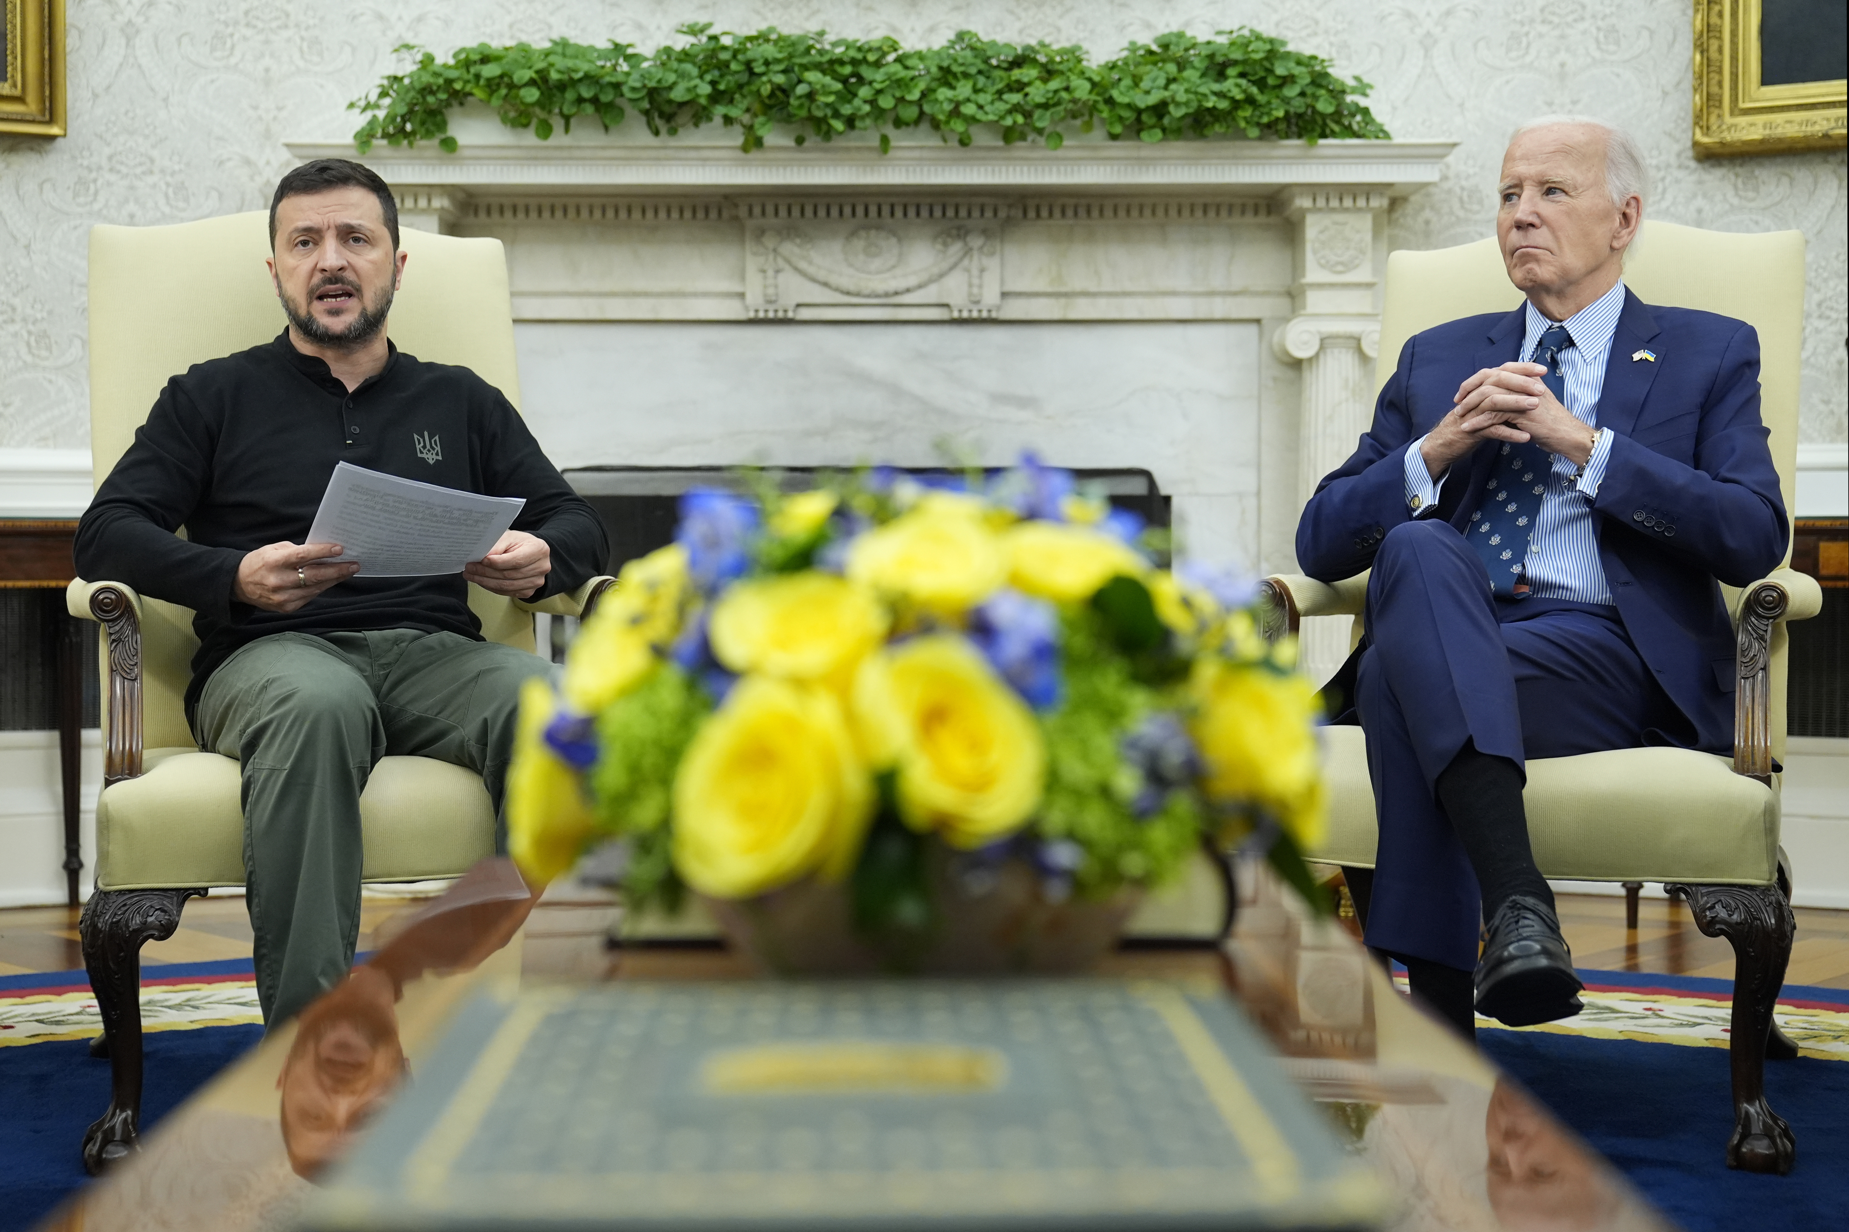
MULTIPOLYGON (((1784 504, 1797 462, 1797 371, 1805 303, 1805 240, 1797 231, 1731 235, 1646 222, 1625 266, 1644 303, 1705 308, 1758 331, 1762 416, 1771 430, 1784 504)), ((1496 240, 1387 260, 1376 388, 1402 344, 1422 329, 1520 303, 1496 240)), ((1305 576, 1267 580, 1278 626, 1298 617, 1352 615, 1361 635, 1366 574, 1326 586, 1305 576)), ((1535 859, 1557 879, 1625 883, 1635 924, 1636 885, 1664 883, 1697 927, 1734 948, 1733 1095, 1727 1164, 1790 1171, 1792 1130, 1766 1105, 1766 1057, 1795 1057, 1771 1018, 1792 953, 1790 874, 1779 850, 1777 757, 1784 754, 1786 621, 1823 604, 1816 580, 1777 569, 1744 591, 1725 587, 1738 630, 1734 755, 1627 748, 1527 763, 1525 803, 1535 859)), ((1361 728, 1328 728, 1329 835, 1311 857, 1374 868, 1374 794, 1361 728)))

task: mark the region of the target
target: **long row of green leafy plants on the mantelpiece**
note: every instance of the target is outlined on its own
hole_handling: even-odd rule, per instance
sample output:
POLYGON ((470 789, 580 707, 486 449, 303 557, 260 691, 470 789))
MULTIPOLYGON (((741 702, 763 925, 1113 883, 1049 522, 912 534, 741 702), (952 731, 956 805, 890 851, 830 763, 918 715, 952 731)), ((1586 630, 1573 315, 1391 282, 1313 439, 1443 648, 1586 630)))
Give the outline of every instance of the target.
POLYGON ((692 42, 643 54, 627 42, 590 46, 555 39, 462 48, 447 61, 405 44, 416 65, 388 74, 348 103, 368 115, 353 133, 361 153, 373 142, 436 140, 455 153, 447 113, 481 100, 508 127, 547 140, 555 124, 592 118, 605 131, 634 111, 660 137, 719 120, 743 129, 740 148, 764 148, 778 126, 832 140, 838 133, 928 124, 943 140, 969 146, 973 129, 997 124, 1002 140, 1041 140, 1058 150, 1061 126, 1146 142, 1189 137, 1385 139, 1361 105, 1372 87, 1344 81, 1320 55, 1292 52, 1255 30, 1217 39, 1167 33, 1132 42, 1093 65, 1078 46, 1015 46, 961 31, 939 48, 908 50, 897 39, 828 39, 825 33, 712 33, 680 26, 692 42))

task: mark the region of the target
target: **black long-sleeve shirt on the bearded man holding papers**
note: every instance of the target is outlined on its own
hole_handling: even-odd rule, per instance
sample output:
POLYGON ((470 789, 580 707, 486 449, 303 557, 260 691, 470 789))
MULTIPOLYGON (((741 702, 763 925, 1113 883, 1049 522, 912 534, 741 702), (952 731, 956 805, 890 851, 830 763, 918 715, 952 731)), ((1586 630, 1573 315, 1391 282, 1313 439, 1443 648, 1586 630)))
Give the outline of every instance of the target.
POLYGON ((80 576, 126 582, 194 610, 200 650, 189 717, 213 669, 270 634, 414 628, 481 639, 462 574, 349 578, 288 613, 233 597, 246 552, 307 537, 338 462, 525 497, 514 530, 545 539, 553 562, 534 598, 582 586, 608 556, 595 512, 501 392, 466 368, 392 347, 385 369, 348 393, 287 332, 196 364, 166 382, 83 513, 76 541, 80 576), (174 534, 181 526, 185 537, 174 534))

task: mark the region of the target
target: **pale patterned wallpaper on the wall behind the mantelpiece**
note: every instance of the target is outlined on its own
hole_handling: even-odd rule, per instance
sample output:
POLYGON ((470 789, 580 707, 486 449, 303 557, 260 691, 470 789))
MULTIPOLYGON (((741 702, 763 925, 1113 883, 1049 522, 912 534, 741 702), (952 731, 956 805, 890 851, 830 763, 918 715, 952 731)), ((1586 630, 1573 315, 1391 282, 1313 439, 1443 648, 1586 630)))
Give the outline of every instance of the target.
MULTIPOLYGON (((1239 22, 1376 83, 1396 137, 1464 144, 1442 183, 1400 203, 1392 248, 1490 233, 1507 133, 1538 113, 1631 127, 1657 175, 1647 212, 1731 231, 1810 236, 1803 427, 1845 440, 1845 161, 1842 151, 1696 163, 1688 0, 1555 0, 1548 22, 1494 0, 70 0, 70 137, 0 137, 0 447, 81 447, 85 233, 259 209, 288 166, 285 139, 349 133, 344 111, 394 65, 390 48, 569 35, 655 46, 677 20, 723 30, 825 28, 937 41, 1082 42, 1113 54, 1165 30, 1239 22)), ((187 253, 176 251, 176 312, 187 253)), ((150 329, 157 323, 150 321, 150 329)))

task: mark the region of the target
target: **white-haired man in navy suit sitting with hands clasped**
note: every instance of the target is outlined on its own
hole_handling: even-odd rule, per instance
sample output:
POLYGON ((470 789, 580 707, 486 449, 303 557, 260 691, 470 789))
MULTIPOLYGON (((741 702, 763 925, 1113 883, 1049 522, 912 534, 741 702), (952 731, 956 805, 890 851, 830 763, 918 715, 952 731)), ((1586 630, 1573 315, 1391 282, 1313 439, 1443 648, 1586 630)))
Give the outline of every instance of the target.
POLYGON ((1353 879, 1368 946, 1466 1034, 1472 1005, 1511 1025, 1581 1009, 1524 759, 1729 752, 1718 582, 1784 558, 1758 338, 1625 288, 1642 211, 1629 137, 1577 118, 1520 129, 1496 236, 1527 303, 1411 338, 1296 534, 1315 578, 1372 569, 1344 667, 1379 816, 1372 883, 1353 879))

